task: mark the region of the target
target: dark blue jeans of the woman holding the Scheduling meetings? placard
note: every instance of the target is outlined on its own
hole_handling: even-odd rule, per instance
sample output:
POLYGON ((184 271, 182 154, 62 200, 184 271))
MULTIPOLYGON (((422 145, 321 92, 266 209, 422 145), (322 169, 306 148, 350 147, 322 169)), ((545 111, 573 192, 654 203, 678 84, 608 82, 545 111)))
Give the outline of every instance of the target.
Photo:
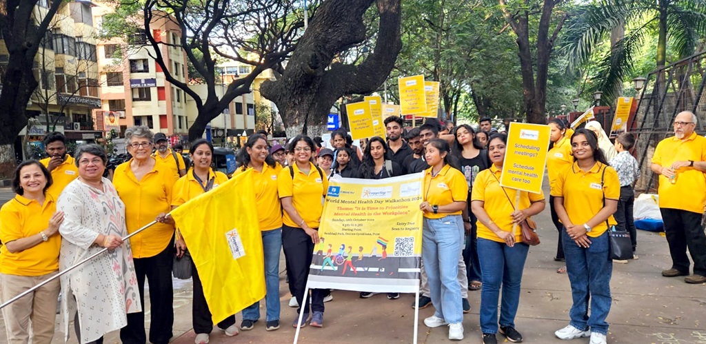
POLYGON ((503 286, 500 306, 500 326, 515 327, 515 314, 520 304, 520 282, 530 246, 516 243, 509 247, 504 242, 478 238, 478 256, 483 272, 481 289, 481 331, 498 332, 498 297, 503 286))

